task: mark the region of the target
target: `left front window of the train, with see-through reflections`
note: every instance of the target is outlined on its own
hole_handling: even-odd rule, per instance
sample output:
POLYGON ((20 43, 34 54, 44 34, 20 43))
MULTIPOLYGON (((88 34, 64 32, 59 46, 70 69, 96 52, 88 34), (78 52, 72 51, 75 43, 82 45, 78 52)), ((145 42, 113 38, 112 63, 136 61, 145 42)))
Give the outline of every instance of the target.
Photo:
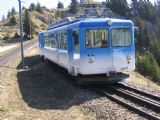
POLYGON ((87 48, 106 48, 108 43, 108 30, 97 29, 86 31, 87 48))

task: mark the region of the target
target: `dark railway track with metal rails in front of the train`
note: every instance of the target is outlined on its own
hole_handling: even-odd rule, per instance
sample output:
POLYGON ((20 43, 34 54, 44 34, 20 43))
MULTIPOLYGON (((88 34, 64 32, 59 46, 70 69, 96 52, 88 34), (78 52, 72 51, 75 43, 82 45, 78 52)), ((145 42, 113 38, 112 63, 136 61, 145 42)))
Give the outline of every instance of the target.
POLYGON ((135 88, 117 84, 115 86, 91 86, 98 92, 118 104, 152 120, 160 120, 160 97, 137 90, 135 88))

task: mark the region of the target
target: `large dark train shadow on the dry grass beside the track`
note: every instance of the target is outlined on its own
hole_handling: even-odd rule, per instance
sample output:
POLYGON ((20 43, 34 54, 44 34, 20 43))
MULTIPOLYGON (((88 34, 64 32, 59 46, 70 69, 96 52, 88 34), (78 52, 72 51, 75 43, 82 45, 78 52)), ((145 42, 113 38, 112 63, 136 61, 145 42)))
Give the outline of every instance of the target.
POLYGON ((32 108, 69 109, 97 98, 94 93, 68 80, 51 64, 40 62, 39 56, 26 57, 25 64, 30 69, 19 71, 17 78, 22 98, 32 108))

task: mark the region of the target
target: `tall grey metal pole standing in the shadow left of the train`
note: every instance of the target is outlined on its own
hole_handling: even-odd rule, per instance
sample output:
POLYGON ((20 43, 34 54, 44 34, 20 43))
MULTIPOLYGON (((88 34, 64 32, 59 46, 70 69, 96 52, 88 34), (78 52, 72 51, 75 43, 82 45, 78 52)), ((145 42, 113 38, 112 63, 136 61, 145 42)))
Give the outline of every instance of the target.
POLYGON ((21 9, 21 1, 19 2, 19 19, 20 19, 20 39, 21 39, 21 62, 22 62, 22 69, 24 69, 24 53, 23 53, 23 31, 22 31, 22 9, 21 9))

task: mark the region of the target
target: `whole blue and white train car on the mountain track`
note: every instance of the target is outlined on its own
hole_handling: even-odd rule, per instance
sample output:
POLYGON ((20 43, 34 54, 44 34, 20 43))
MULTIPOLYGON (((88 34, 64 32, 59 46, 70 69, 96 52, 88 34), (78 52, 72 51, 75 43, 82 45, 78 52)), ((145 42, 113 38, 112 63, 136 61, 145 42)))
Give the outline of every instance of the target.
POLYGON ((51 25, 39 33, 40 56, 84 82, 119 82, 135 69, 134 24, 93 18, 51 25))

